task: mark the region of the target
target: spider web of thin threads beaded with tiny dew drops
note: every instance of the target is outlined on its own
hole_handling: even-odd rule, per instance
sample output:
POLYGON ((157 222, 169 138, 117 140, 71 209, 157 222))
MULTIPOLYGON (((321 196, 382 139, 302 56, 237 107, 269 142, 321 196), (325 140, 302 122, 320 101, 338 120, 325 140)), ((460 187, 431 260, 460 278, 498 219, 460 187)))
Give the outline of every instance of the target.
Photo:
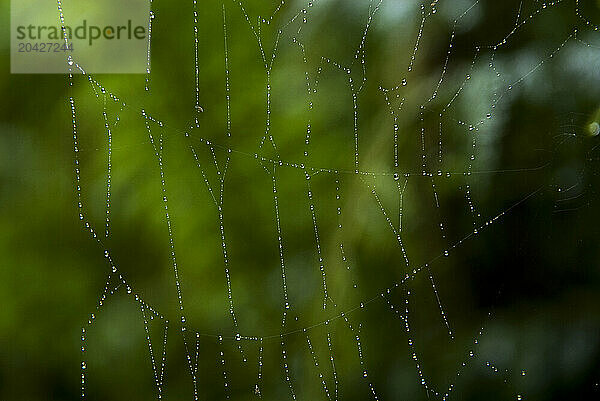
POLYGON ((598 87, 598 27, 579 1, 494 3, 152 2, 145 77, 75 60, 77 208, 105 280, 82 398, 129 380, 158 399, 445 400, 482 377, 524 398, 526 364, 487 338, 499 286, 455 295, 536 199, 586 206, 589 142, 511 116, 556 99, 544 77, 573 58, 598 87))

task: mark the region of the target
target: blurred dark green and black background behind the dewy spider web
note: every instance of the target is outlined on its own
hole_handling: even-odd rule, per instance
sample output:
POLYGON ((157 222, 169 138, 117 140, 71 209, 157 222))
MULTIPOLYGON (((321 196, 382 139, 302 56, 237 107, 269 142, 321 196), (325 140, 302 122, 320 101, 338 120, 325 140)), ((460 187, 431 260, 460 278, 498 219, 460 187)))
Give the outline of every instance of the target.
POLYGON ((112 129, 111 234, 102 246, 78 216, 68 99, 77 107, 86 220, 102 236, 104 97, 83 76, 70 88, 62 75, 11 75, 10 4, 0 5, 0 399, 81 398, 82 359, 86 399, 156 399, 135 296, 164 317, 148 324, 156 359, 169 320, 166 399, 193 399, 182 327, 192 348, 200 334, 203 400, 291 399, 283 349, 298 399, 326 398, 320 372, 334 398, 328 333, 343 400, 372 398, 370 384, 379 399, 436 398, 419 369, 427 386, 444 394, 453 383, 451 397, 461 400, 598 396, 600 142, 585 136, 585 126, 600 106, 599 2, 384 0, 374 13, 377 2, 292 1, 275 14, 271 2, 245 1, 243 10, 237 2, 199 2, 200 113, 193 4, 155 1, 151 75, 94 77, 120 99, 106 102, 109 119, 119 116, 119 123, 112 129), (260 146, 267 78, 257 39, 270 60, 280 29, 268 115, 275 149, 268 135, 260 146), (184 325, 161 171, 142 109, 162 124, 149 127, 163 145, 184 325), (218 194, 215 160, 222 168, 227 156, 223 231, 239 329, 229 313, 219 214, 205 183, 218 194), (325 310, 308 185, 331 297, 325 310), (409 267, 382 208, 396 229, 402 216, 409 267), (105 286, 118 284, 107 284, 105 250, 131 293, 118 286, 98 310, 105 286), (379 296, 406 274, 410 280, 379 296), (341 312, 348 321, 335 318, 341 312), (264 337, 260 380, 259 342, 236 341, 238 332, 264 337))

